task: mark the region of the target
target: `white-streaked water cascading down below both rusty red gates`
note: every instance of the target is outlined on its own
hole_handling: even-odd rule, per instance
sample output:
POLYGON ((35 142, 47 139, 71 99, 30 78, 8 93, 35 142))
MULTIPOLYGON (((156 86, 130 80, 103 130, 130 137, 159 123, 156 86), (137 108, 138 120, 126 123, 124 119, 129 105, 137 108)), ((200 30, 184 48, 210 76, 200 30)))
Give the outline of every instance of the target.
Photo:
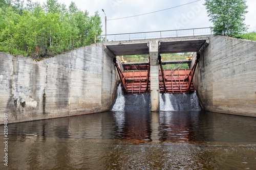
MULTIPOLYGON (((150 94, 123 95, 121 85, 117 88, 117 98, 112 111, 144 112, 151 110, 150 94)), ((201 110, 196 91, 192 94, 159 93, 159 107, 161 111, 172 110, 201 110)))

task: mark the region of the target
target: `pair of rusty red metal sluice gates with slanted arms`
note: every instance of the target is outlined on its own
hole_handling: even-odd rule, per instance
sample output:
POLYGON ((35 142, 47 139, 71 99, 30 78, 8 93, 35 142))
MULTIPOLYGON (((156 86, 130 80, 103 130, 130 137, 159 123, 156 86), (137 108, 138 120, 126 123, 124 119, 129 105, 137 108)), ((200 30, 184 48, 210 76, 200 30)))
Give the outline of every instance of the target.
MULTIPOLYGON (((150 63, 147 70, 121 71, 116 59, 114 63, 118 70, 124 94, 143 94, 150 92, 150 63)), ((196 60, 191 69, 162 68, 159 58, 159 90, 161 93, 193 93, 195 91, 193 77, 197 66, 196 60)))

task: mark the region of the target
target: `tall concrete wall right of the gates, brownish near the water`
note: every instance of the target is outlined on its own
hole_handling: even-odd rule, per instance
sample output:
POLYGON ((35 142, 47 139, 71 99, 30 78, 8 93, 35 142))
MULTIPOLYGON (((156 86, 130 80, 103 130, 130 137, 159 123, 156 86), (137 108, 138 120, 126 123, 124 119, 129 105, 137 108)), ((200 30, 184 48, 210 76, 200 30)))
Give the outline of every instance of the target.
POLYGON ((256 116, 256 42, 211 36, 194 82, 205 110, 256 116))

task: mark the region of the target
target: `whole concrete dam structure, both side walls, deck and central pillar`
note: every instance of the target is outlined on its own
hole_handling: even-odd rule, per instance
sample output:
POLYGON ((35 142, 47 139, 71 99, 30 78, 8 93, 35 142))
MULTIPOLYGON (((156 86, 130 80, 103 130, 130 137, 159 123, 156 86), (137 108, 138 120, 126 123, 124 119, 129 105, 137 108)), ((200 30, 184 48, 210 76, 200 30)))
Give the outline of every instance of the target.
POLYGON ((255 117, 255 44, 193 34, 98 42, 41 61, 0 53, 0 111, 9 123, 108 111, 120 82, 113 59, 138 54, 150 57, 151 111, 158 111, 159 55, 195 52, 193 86, 202 108, 255 117))

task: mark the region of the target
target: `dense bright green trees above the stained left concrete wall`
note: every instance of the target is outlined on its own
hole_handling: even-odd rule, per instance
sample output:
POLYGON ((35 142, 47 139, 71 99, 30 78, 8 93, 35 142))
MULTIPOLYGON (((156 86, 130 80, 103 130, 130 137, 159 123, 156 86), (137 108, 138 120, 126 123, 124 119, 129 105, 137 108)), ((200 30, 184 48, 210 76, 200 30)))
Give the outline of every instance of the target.
POLYGON ((0 51, 43 58, 94 43, 101 34, 98 12, 89 16, 72 2, 69 8, 48 0, 44 5, 0 0, 0 51))

